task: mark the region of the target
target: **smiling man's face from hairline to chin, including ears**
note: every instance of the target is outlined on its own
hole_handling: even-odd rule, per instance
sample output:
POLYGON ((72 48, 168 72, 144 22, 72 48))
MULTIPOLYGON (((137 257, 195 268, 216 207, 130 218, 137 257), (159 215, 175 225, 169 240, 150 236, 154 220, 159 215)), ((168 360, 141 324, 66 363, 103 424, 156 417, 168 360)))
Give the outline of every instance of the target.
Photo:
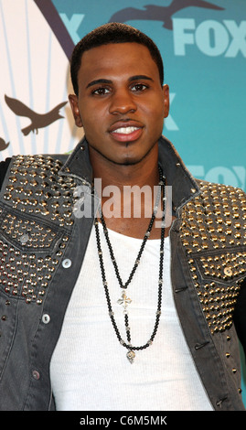
POLYGON ((168 115, 169 94, 146 47, 91 48, 82 56, 78 85, 79 95, 70 95, 70 105, 90 151, 119 165, 151 154, 168 115))

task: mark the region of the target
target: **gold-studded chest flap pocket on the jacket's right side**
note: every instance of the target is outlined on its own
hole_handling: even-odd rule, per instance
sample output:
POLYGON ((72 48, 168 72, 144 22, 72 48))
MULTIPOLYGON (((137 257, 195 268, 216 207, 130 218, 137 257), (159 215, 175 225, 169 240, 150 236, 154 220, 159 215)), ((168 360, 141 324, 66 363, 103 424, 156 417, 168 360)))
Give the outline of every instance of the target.
POLYGON ((212 334, 230 328, 246 274, 245 249, 196 253, 189 259, 189 267, 212 334))

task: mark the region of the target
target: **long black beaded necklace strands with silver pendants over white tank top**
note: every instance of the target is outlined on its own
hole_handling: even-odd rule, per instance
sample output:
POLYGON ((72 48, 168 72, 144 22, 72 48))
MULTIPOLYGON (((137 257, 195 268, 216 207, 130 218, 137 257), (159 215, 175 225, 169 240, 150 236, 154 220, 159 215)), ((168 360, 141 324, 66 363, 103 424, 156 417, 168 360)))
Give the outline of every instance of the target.
POLYGON ((165 186, 166 186, 166 177, 163 176, 163 172, 162 169, 159 167, 159 188, 158 188, 158 193, 156 196, 156 201, 155 201, 155 207, 153 210, 153 214, 152 214, 152 218, 149 222, 147 231, 144 234, 144 240, 141 244, 139 253, 137 254, 137 258, 134 262, 134 267, 132 272, 129 275, 128 280, 126 281, 126 283, 123 285, 123 281, 121 278, 121 275, 119 273, 119 268, 118 265, 116 263, 113 251, 112 251, 112 244, 110 242, 110 238, 109 238, 109 233, 108 233, 108 229, 105 223, 105 220, 103 218, 102 215, 102 210, 101 210, 101 221, 102 221, 102 228, 103 228, 103 232, 104 232, 104 236, 106 239, 106 242, 108 244, 109 247, 109 251, 110 251, 110 256, 111 256, 111 260, 112 260, 112 264, 114 267, 114 271, 115 274, 117 276, 119 285, 121 286, 121 288, 123 288, 123 293, 121 298, 118 300, 118 304, 123 305, 123 315, 124 315, 124 325, 125 325, 125 330, 126 330, 126 338, 127 338, 127 342, 125 342, 122 339, 122 336, 120 334, 120 331, 117 327, 115 318, 114 318, 114 313, 112 311, 112 303, 111 303, 111 298, 110 298, 110 294, 109 294, 109 289, 108 289, 108 283, 106 280, 106 275, 105 275, 105 268, 104 268, 104 264, 103 264, 103 257, 102 257, 102 246, 101 246, 101 240, 100 240, 100 232, 99 232, 99 221, 96 218, 95 219, 95 231, 96 231, 96 242, 97 242, 97 248, 98 248, 98 255, 99 255, 99 261, 100 261, 100 267, 101 267, 101 273, 102 273, 102 284, 104 286, 104 291, 105 291, 105 296, 106 296, 106 300, 107 300, 107 305, 108 305, 108 310, 109 310, 109 316, 111 317, 112 320, 112 327, 114 328, 114 331, 116 333, 117 339, 120 341, 121 345, 123 345, 124 348, 128 349, 126 357, 127 359, 133 363, 134 362, 134 358, 135 358, 135 350, 140 350, 140 349, 146 349, 148 348, 150 345, 152 345, 153 340, 155 339, 155 335, 157 332, 157 328, 159 325, 159 320, 161 317, 161 306, 162 306, 162 285, 163 285, 163 261, 164 261, 164 242, 165 242, 165 186), (163 193, 162 193, 163 192, 163 193), (128 317, 128 311, 127 311, 127 306, 130 305, 130 303, 132 302, 132 300, 126 296, 125 293, 125 289, 127 288, 127 286, 131 283, 133 277, 134 277, 134 273, 136 271, 136 268, 138 267, 139 263, 140 263, 140 259, 141 256, 144 252, 144 246, 145 243, 147 242, 150 233, 152 231, 154 222, 155 222, 155 216, 156 216, 156 212, 158 209, 158 204, 159 204, 159 199, 161 199, 161 195, 163 194, 163 216, 162 216, 162 226, 161 226, 161 241, 160 241, 160 262, 159 262, 159 278, 158 278, 158 297, 157 297, 157 309, 156 309, 156 316, 155 316, 155 326, 154 326, 154 330, 152 332, 152 335, 150 337, 150 339, 142 346, 139 347, 134 347, 131 343, 131 329, 129 327, 129 317, 128 317))

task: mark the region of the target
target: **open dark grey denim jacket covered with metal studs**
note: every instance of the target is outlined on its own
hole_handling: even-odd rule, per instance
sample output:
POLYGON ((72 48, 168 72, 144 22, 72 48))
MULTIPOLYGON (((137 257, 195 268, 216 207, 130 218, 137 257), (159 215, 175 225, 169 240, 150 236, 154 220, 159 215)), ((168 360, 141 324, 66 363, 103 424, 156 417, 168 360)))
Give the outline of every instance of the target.
MULTIPOLYGON (((159 163, 173 190, 171 276, 187 345, 213 408, 243 410, 232 314, 246 270, 245 195, 198 183, 164 137, 159 163)), ((90 184, 84 139, 69 157, 14 156, 8 167, 0 193, 0 410, 55 409, 49 363, 98 206, 90 184), (76 215, 89 203, 90 216, 76 215)))

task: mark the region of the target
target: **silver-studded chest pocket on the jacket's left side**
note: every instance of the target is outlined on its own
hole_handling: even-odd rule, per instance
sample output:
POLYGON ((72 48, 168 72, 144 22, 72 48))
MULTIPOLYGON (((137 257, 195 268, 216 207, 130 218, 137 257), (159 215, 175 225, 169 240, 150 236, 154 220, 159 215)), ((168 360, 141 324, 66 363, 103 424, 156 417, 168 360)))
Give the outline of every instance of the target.
POLYGON ((0 291, 41 304, 59 265, 67 231, 13 210, 3 210, 0 224, 0 291))

